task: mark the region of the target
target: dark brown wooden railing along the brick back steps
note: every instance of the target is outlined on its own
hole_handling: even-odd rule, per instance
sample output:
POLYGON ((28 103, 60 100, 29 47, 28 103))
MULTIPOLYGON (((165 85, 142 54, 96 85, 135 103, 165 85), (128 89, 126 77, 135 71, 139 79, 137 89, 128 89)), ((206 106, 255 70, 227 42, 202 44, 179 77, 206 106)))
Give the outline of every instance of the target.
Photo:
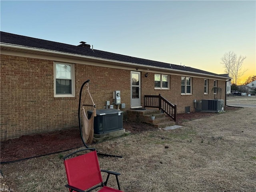
POLYGON ((170 116, 175 122, 177 120, 177 105, 170 103, 164 97, 159 95, 145 95, 144 107, 158 108, 170 116))

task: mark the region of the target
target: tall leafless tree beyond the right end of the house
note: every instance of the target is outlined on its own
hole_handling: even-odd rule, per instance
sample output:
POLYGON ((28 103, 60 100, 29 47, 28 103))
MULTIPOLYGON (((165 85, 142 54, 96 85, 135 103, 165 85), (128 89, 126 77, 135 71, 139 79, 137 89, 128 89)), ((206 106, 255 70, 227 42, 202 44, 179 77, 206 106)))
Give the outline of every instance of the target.
POLYGON ((225 72, 232 78, 232 84, 236 85, 238 79, 247 71, 242 68, 246 56, 237 56, 233 51, 226 52, 221 58, 225 72))

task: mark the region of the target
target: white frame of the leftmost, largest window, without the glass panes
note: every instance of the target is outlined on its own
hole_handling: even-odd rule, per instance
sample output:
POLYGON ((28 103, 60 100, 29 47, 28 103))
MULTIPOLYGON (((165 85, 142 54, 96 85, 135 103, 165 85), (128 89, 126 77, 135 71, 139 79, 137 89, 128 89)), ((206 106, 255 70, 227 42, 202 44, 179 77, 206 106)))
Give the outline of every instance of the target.
POLYGON ((75 64, 72 63, 64 63, 64 62, 54 62, 53 64, 53 71, 54 71, 54 97, 75 97, 75 64), (70 66, 71 70, 71 94, 56 94, 56 64, 65 64, 70 66))

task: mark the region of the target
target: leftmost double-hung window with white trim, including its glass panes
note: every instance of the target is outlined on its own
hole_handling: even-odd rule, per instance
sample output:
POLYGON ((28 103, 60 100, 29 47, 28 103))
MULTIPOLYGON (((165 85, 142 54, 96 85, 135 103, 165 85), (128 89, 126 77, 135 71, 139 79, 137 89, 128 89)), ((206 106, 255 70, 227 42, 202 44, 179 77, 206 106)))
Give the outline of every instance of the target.
POLYGON ((54 97, 74 96, 74 64, 54 62, 54 97))

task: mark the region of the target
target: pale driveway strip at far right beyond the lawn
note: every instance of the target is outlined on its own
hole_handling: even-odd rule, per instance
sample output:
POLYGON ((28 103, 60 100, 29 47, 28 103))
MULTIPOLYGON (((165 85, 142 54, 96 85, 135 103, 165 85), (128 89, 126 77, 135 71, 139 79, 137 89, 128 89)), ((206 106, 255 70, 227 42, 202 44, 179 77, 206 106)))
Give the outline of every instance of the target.
POLYGON ((256 107, 256 96, 229 96, 227 105, 235 107, 256 107))

